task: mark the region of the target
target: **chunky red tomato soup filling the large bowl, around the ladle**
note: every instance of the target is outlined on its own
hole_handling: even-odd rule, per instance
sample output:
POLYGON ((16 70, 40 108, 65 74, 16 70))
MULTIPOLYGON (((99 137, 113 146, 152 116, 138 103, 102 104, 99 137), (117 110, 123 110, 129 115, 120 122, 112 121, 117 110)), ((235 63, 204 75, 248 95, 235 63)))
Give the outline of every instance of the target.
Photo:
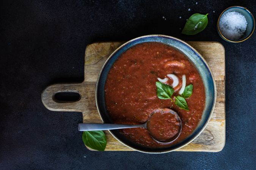
MULTIPOLYGON (((171 86, 172 83, 173 80, 168 78, 166 84, 171 86)), ((157 143, 144 128, 120 130, 137 144, 151 148, 168 147, 184 140, 195 130, 204 110, 205 91, 201 76, 184 54, 163 43, 147 42, 128 49, 113 64, 105 84, 105 101, 115 124, 143 124, 157 108, 176 111, 181 117, 182 131, 171 144, 157 143), (158 77, 164 79, 167 74, 175 74, 179 79, 173 100, 179 95, 182 75, 186 76, 186 86, 193 85, 192 96, 186 99, 189 111, 177 107, 170 99, 157 97, 155 82, 159 81, 158 77)))

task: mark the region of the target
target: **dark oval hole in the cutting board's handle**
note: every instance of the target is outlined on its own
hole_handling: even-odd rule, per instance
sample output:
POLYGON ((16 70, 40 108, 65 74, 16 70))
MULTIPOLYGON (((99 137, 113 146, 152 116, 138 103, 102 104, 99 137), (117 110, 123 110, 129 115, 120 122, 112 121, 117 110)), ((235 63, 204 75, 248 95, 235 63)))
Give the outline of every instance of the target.
POLYGON ((78 91, 58 91, 52 99, 57 103, 72 103, 79 101, 81 94, 78 91))

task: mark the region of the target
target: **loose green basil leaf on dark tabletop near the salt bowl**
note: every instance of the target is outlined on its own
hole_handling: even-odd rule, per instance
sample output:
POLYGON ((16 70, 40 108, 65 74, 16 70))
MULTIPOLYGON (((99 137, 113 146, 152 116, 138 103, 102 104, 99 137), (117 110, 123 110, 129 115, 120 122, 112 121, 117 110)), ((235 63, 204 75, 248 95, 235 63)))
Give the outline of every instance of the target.
POLYGON ((208 14, 202 15, 198 13, 191 15, 181 33, 186 35, 195 35, 203 31, 208 24, 207 15, 208 14))

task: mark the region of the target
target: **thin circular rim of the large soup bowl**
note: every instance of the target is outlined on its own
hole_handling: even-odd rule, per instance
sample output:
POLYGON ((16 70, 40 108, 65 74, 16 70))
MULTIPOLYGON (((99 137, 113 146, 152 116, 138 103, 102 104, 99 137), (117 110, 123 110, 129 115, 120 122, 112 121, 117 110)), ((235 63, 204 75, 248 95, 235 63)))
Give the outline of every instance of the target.
MULTIPOLYGON (((191 138, 189 141, 186 141, 186 142, 181 142, 181 143, 184 143, 184 144, 180 144, 178 145, 177 147, 173 148, 173 149, 169 149, 169 148, 159 148, 160 151, 145 151, 143 149, 138 149, 138 148, 134 148, 128 144, 126 144, 125 142, 123 142, 121 139, 119 139, 114 133, 113 133, 113 130, 108 130, 110 132, 110 134, 112 134, 112 136, 117 139, 119 142, 121 142, 123 145, 133 149, 133 150, 136 150, 136 151, 140 151, 140 152, 143 152, 143 153, 153 153, 153 154, 157 154, 157 153, 167 153, 167 152, 171 152, 171 151, 174 151, 174 150, 177 150, 179 148, 182 148, 184 147, 185 145, 189 144, 190 142, 192 142, 195 138, 197 138, 199 136, 199 134, 202 133, 202 131, 206 128, 207 124, 209 123, 210 121, 210 118, 212 117, 212 113, 214 111, 214 108, 215 108, 215 103, 216 103, 216 95, 217 95, 217 91, 216 91, 216 84, 215 84, 215 80, 214 80, 214 76, 213 76, 213 73, 212 71, 210 70, 210 67, 209 65, 207 64, 206 60, 201 56, 201 54, 198 53, 198 51, 196 51, 196 49, 194 49, 192 46, 190 46, 188 43, 180 40, 180 39, 177 39, 175 37, 171 37, 171 36, 165 36, 165 35, 161 35, 161 34, 152 34, 152 35, 147 35, 147 36, 141 36, 141 37, 137 37, 135 39, 132 39, 126 43, 124 43, 123 45, 119 46, 112 54, 110 54, 110 56, 108 57, 108 59, 105 61, 105 63, 103 64, 102 68, 101 68, 101 71, 99 73, 99 76, 98 76, 98 79, 97 79, 97 82, 96 82, 96 88, 95 88, 95 99, 96 99, 96 107, 97 107, 97 110, 99 112, 99 115, 101 117, 101 120, 104 122, 104 123, 112 123, 112 122, 105 122, 104 120, 104 117, 102 116, 101 114, 101 111, 99 109, 99 102, 98 102, 98 89, 99 89, 99 81, 101 79, 101 75, 104 71, 104 68, 105 66, 108 64, 108 61, 111 59, 112 56, 114 56, 114 54, 116 52, 119 51, 119 49, 123 48, 124 46, 126 46, 127 44, 135 41, 135 40, 139 40, 139 39, 143 39, 143 38, 147 38, 147 37, 163 37, 163 38, 169 38, 169 39, 174 39, 180 43, 183 43, 184 45, 188 46, 188 48, 192 49, 192 51, 194 51, 196 53, 196 55, 202 60, 202 62, 204 63, 204 65, 206 66, 207 70, 209 71, 209 74, 212 78, 212 83, 213 83, 213 88, 214 88, 214 99, 213 99, 213 104, 212 104, 212 108, 210 110, 210 113, 209 113, 209 116, 207 117, 207 121, 204 123, 203 127, 201 127, 201 129, 199 130, 199 132, 197 132, 197 134, 195 134, 193 136, 193 138, 191 138)), ((133 46, 133 45, 132 45, 133 46)), ((185 141, 186 139, 184 139, 185 141)), ((150 148, 149 148, 150 149, 150 148)))

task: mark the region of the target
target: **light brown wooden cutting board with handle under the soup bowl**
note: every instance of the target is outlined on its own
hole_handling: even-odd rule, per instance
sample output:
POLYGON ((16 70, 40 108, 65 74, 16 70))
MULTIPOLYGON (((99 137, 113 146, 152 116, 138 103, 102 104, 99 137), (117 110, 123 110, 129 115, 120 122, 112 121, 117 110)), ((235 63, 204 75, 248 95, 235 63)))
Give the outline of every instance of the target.
MULTIPOLYGON (((225 145, 225 49, 218 42, 187 42, 207 61, 215 78, 217 100, 212 118, 204 131, 190 144, 177 151, 221 151, 225 145)), ((84 123, 102 123, 95 102, 95 85, 99 71, 108 56, 123 42, 93 43, 85 50, 85 80, 82 83, 59 83, 50 85, 42 93, 42 102, 52 111, 79 111, 84 123), (78 92, 77 102, 60 102, 54 94, 61 91, 78 92)), ((106 151, 132 151, 118 142, 109 131, 106 151)), ((82 140, 82 139, 81 139, 82 140)), ((90 149, 90 148, 89 148, 90 149)))

